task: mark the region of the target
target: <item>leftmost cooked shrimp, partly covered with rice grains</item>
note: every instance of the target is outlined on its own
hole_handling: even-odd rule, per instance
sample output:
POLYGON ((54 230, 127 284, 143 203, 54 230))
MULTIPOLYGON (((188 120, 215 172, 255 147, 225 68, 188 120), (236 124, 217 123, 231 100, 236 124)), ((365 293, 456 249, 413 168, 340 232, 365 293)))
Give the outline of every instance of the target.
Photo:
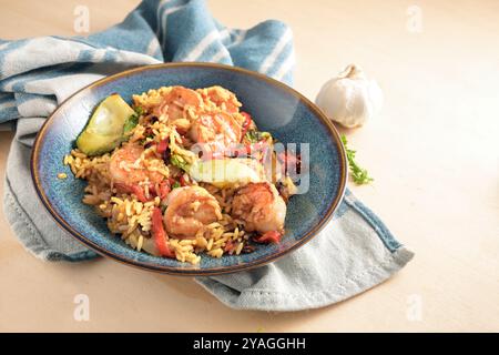
POLYGON ((133 185, 149 179, 159 183, 164 176, 155 171, 149 171, 141 160, 144 148, 135 143, 123 144, 116 150, 109 162, 109 174, 114 183, 133 185))

